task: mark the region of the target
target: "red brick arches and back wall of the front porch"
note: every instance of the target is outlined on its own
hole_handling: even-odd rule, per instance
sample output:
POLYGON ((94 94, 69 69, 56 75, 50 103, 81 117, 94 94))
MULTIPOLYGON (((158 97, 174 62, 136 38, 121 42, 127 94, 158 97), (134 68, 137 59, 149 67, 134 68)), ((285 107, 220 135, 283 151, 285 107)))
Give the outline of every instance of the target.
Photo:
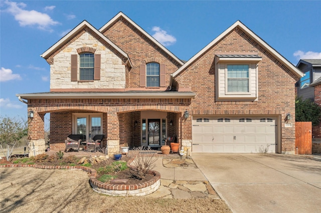
MULTIPOLYGON (((39 129, 43 121, 35 122, 40 114, 50 113, 50 147, 52 150, 64 150, 65 139, 72 133, 72 113, 103 113, 103 134, 106 136, 103 145, 106 146, 107 139, 127 142, 131 146, 140 145, 140 110, 159 110, 182 113, 189 105, 189 98, 150 98, 150 99, 31 99, 29 108, 35 112, 33 127, 39 129), (166 105, 170 103, 171 105, 166 105), (91 110, 89 110, 91 109, 91 110), (137 126, 133 122, 137 120, 137 126), (130 123, 129 123, 130 121, 130 123), (119 126, 120 125, 120 126, 119 126), (132 127, 130 127, 132 126, 132 127), (134 137, 131 135, 134 132, 134 137), (133 140, 134 139, 134 140, 133 140)), ((171 115, 173 116, 173 115, 171 115)), ((41 119, 39 117, 39 119, 41 119)), ((176 118, 177 119, 177 118, 176 118)), ((179 121, 174 120, 175 128, 179 121)), ((172 130, 171 130, 172 131, 172 130)), ((177 129, 174 130, 179 132, 177 129)), ((36 132, 30 133, 37 135, 36 132)), ((44 132, 39 134, 44 138, 44 132)))

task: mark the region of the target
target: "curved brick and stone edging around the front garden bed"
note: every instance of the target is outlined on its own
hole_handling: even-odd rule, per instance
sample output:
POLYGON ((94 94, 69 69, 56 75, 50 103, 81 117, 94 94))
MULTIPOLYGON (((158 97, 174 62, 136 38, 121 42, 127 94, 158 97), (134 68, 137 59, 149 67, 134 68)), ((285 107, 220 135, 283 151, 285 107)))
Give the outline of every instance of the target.
POLYGON ((90 172, 89 182, 92 189, 98 193, 104 193, 108 195, 122 195, 122 196, 141 196, 147 195, 158 189, 161 185, 161 174, 157 171, 150 171, 154 177, 150 180, 138 184, 110 184, 101 182, 96 179, 97 171, 93 168, 89 168, 82 165, 38 165, 38 164, 6 164, 0 165, 0 167, 34 167, 44 169, 82 169, 90 172))

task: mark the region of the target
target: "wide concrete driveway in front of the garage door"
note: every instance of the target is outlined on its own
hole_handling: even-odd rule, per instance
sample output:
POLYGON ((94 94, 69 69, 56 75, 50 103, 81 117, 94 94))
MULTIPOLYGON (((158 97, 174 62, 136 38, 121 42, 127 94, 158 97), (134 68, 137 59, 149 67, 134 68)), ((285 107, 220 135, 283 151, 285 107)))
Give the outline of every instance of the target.
POLYGON ((285 154, 193 154, 233 212, 321 212, 321 160, 285 154))

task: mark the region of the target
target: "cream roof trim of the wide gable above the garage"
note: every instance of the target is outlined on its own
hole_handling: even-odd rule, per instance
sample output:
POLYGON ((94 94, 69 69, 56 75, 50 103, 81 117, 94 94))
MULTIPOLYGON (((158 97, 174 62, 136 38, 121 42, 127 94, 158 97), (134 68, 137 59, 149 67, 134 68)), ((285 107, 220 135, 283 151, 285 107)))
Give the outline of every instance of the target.
POLYGON ((204 52, 206 52, 209 48, 215 45, 221 38, 226 36, 230 31, 232 31, 235 27, 241 28, 244 32, 246 32, 252 39, 262 45, 270 54, 276 57, 280 62, 282 62, 287 68, 289 68, 295 75, 302 77, 303 73, 295 67, 291 62, 289 62, 285 57, 283 57, 280 53, 278 53, 275 49, 273 49, 269 44, 267 44, 262 38, 256 35, 252 30, 250 30, 247 26, 245 26, 241 21, 236 21, 233 25, 227 28, 223 33, 221 33, 218 37, 216 37, 213 41, 211 41, 208 45, 206 45, 201 51, 199 51, 196 55, 190 58, 182 67, 180 67, 177 71, 173 73, 173 77, 179 75, 186 67, 188 67, 193 61, 195 61, 199 56, 201 56, 204 52))

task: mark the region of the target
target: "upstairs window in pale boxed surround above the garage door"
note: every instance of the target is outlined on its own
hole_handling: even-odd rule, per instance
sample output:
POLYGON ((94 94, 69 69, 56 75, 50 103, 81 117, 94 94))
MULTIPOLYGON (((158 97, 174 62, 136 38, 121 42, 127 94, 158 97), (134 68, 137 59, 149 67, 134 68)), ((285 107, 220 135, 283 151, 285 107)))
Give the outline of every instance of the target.
POLYGON ((249 92, 249 65, 227 65, 227 92, 249 92))

